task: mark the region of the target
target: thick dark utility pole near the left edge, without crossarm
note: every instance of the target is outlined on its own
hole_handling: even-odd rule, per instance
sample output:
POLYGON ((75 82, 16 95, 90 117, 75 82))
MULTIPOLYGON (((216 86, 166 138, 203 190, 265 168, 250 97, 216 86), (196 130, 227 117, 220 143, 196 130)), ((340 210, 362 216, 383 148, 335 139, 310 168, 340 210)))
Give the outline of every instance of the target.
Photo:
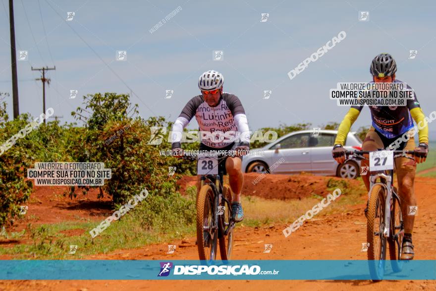
POLYGON ((9 28, 10 28, 10 59, 11 59, 11 67, 12 67, 12 106, 13 106, 13 115, 15 119, 20 115, 20 110, 18 107, 17 56, 16 56, 16 49, 15 49, 13 0, 9 0, 9 28))

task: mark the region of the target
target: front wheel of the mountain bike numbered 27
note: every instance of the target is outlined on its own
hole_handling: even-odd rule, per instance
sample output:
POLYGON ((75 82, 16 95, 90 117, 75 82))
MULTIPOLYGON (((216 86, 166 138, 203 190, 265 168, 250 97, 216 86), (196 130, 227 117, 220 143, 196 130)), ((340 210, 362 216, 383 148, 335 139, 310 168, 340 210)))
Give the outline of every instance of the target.
POLYGON ((386 260, 386 237, 383 236, 384 228, 384 201, 385 191, 382 185, 376 184, 371 190, 368 205, 367 242, 368 266, 373 281, 380 281, 384 275, 386 260))

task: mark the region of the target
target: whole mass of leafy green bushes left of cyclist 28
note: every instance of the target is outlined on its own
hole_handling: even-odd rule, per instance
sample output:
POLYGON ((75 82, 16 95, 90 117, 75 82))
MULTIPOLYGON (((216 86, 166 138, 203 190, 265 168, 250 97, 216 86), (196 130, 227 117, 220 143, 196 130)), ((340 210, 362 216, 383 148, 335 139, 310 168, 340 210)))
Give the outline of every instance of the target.
MULTIPOLYGON (((1 144, 32 121, 27 114, 8 120, 5 109, 3 103, 0 108, 1 144)), ((134 119, 138 116, 137 105, 130 104, 128 95, 115 93, 85 96, 83 108, 77 108, 72 116, 83 121, 85 126, 59 125, 58 121, 41 124, 0 156, 0 227, 13 222, 19 206, 29 197, 32 182, 25 181, 25 177, 27 168, 33 168, 35 162, 103 162, 112 170, 112 177, 99 187, 100 196, 109 194, 114 206, 127 202, 146 188, 151 194, 149 203, 155 203, 147 208, 151 209, 150 215, 163 213, 165 219, 162 221, 165 221, 169 214, 177 212, 188 217, 187 220, 191 219, 191 214, 185 211, 192 210, 192 203, 176 193, 176 179, 182 174, 195 174, 195 164, 161 156, 159 150, 169 150, 170 143, 148 145, 150 126, 164 126, 169 132, 171 123, 163 117, 134 119), (116 139, 105 143, 117 132, 116 139), (167 175, 170 166, 177 167, 176 175, 167 175), (166 206, 157 207, 163 201, 166 206)), ((194 144, 185 146, 195 147, 194 144)), ((89 187, 79 188, 84 194, 89 190, 89 187)), ((75 197, 77 188, 69 189, 69 196, 75 197)))

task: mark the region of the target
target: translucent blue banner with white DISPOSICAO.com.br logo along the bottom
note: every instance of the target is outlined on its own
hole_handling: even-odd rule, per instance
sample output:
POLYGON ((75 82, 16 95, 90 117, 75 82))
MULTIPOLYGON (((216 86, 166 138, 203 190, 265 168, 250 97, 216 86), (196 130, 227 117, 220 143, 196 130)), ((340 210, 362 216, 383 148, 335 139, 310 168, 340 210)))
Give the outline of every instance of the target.
POLYGON ((436 280, 435 260, 0 260, 0 280, 436 280))

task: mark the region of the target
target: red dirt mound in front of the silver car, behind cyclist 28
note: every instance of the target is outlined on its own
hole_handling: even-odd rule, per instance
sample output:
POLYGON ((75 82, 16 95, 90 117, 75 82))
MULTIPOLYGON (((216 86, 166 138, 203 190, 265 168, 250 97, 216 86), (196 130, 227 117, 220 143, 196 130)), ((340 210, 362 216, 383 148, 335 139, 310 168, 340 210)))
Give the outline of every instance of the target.
MULTIPOLYGON (((185 194, 186 188, 195 186, 197 176, 183 176, 177 184, 180 192, 185 194)), ((331 193, 327 188, 359 187, 360 182, 331 176, 315 175, 261 175, 244 174, 242 195, 259 196, 267 199, 301 199, 313 194, 326 196, 331 193)))

